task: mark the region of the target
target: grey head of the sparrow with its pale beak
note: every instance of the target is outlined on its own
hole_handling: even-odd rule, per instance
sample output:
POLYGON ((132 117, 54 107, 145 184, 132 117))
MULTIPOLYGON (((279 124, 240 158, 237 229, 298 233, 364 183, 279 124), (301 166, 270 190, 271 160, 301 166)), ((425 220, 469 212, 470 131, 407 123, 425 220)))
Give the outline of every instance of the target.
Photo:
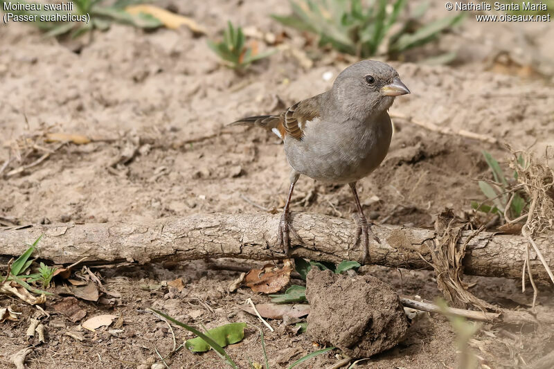
POLYGON ((363 60, 348 66, 333 84, 337 105, 349 118, 366 120, 382 114, 396 96, 410 93, 392 66, 376 60, 363 60))

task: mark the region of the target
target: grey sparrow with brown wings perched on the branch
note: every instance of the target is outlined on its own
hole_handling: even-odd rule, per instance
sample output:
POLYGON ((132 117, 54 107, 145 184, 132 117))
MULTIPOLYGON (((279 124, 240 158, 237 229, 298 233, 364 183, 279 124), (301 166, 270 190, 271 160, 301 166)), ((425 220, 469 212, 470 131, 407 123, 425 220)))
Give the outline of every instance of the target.
MULTIPOLYGON (((283 140, 291 167, 290 186, 278 226, 278 244, 289 255, 290 201, 301 175, 323 183, 350 186, 357 209, 354 245, 361 242, 361 263, 369 255, 368 226, 356 183, 384 160, 391 144, 393 126, 388 109, 397 96, 410 93, 392 66, 362 60, 344 69, 328 91, 296 102, 278 115, 249 116, 230 125, 255 125, 283 140)), ((301 239, 300 239, 301 240, 301 239)))

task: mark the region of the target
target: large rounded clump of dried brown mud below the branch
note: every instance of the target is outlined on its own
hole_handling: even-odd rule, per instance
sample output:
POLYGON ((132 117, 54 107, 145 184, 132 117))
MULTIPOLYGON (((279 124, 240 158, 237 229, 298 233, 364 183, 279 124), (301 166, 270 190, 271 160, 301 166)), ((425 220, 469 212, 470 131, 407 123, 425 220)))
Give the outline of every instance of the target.
POLYGON ((311 307, 307 333, 350 357, 370 357, 393 348, 408 330, 398 295, 373 276, 312 268, 306 287, 311 307))

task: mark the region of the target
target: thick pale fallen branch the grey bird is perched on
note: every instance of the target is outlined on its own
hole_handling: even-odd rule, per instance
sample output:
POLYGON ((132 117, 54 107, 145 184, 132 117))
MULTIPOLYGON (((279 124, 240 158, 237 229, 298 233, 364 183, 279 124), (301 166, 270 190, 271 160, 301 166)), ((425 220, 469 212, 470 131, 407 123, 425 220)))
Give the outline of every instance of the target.
MULTIPOLYGON (((242 258, 251 260, 285 259, 276 246, 280 215, 195 214, 133 223, 48 224, 21 229, 0 229, 0 254, 21 255, 25 242, 44 234, 40 257, 56 264, 72 263, 87 257, 87 262, 146 263, 155 260, 195 260, 242 258)), ((293 226, 304 244, 292 240, 291 256, 341 262, 358 260, 359 246, 352 246, 356 226, 348 219, 318 214, 293 214, 293 226)), ((430 242, 434 231, 404 226, 372 226, 381 244, 370 245, 370 263, 406 269, 429 269, 430 242), (425 258, 422 260, 421 256, 425 258), (427 261, 426 261, 427 260, 427 261)), ((471 231, 464 231, 463 244, 471 231)), ((536 236, 544 260, 554 264, 551 238, 536 236)), ((477 276, 521 278, 528 240, 517 235, 481 232, 466 246, 464 272, 477 276)), ((531 251, 528 267, 535 280, 549 280, 542 262, 531 251)))

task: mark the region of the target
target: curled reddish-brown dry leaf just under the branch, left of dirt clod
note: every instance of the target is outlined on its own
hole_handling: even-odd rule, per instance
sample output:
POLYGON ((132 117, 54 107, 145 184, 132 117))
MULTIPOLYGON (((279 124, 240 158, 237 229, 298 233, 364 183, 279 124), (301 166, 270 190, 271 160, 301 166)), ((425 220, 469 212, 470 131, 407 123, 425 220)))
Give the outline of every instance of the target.
POLYGON ((283 268, 266 264, 263 269, 252 269, 244 278, 246 285, 255 292, 274 294, 288 285, 292 266, 290 260, 285 260, 283 268))

